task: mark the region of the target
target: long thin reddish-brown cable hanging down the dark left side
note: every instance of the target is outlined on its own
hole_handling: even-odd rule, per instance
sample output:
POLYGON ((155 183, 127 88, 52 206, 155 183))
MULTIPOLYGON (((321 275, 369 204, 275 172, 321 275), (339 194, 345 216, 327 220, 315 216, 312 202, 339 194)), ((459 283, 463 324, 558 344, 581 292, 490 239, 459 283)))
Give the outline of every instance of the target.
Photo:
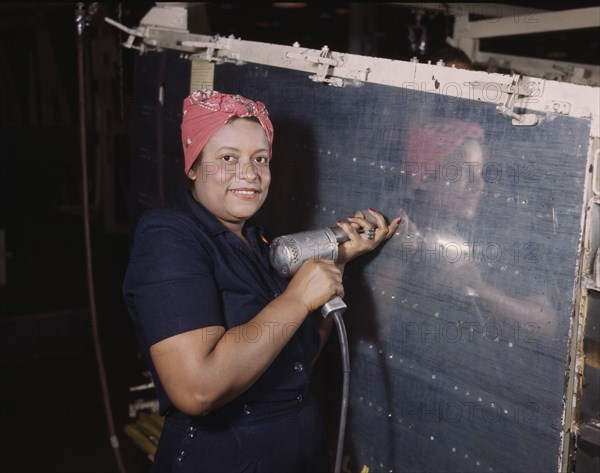
MULTIPOLYGON (((94 12, 88 12, 93 14, 94 12)), ((85 109, 85 68, 84 68, 84 29, 87 26, 84 7, 82 3, 77 4, 75 11, 75 25, 77 28, 77 74, 79 80, 79 134, 80 134, 80 152, 81 152, 81 194, 83 207, 83 231, 85 239, 85 261, 87 270, 87 286, 90 303, 90 319, 92 326, 92 339, 94 342, 94 350, 96 353, 96 362, 98 365, 98 374, 100 376, 100 386, 102 389, 102 401, 104 403, 104 411, 108 431, 110 435, 110 445, 115 455, 119 472, 125 473, 125 466, 121 459, 121 451, 119 449, 119 439, 116 434, 115 424, 113 421, 112 408, 110 404, 110 396, 108 392, 108 381, 106 379, 106 371, 104 368, 104 360, 102 357, 102 347, 100 346, 100 338, 98 336, 98 317, 96 314, 96 295, 94 290, 94 272, 92 267, 92 244, 90 236, 90 212, 88 198, 88 172, 87 172, 87 138, 86 138, 86 109, 85 109)))

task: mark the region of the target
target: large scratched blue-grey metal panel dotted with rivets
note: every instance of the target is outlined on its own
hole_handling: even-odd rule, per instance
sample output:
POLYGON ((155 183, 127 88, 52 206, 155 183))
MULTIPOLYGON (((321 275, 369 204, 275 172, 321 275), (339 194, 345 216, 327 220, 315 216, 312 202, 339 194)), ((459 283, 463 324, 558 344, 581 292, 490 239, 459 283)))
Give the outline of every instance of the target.
MULTIPOLYGON (((158 67, 153 57, 138 59, 146 75, 158 67)), ((167 83, 188 70, 174 60, 167 83)), ((515 127, 490 103, 373 84, 333 88, 306 76, 219 65, 215 88, 269 108, 273 184, 259 217, 273 235, 331 226, 358 208, 403 215, 381 251, 346 270, 347 469, 556 471, 589 122, 541 114, 536 126, 515 127), (465 151, 439 160, 421 182, 407 137, 439 118, 479 124, 481 159, 465 151)), ((187 93, 177 87, 165 130, 187 93)), ((154 93, 146 87, 137 98, 154 93)), ((150 123, 142 115, 134 129, 150 123)), ((176 133, 164 149, 174 189, 176 133)), ((140 162, 134 156, 134 174, 140 162)), ((155 186, 137 182, 134 208, 155 205, 135 193, 155 186)), ((335 427, 335 340, 327 350, 317 381, 328 386, 335 427)))

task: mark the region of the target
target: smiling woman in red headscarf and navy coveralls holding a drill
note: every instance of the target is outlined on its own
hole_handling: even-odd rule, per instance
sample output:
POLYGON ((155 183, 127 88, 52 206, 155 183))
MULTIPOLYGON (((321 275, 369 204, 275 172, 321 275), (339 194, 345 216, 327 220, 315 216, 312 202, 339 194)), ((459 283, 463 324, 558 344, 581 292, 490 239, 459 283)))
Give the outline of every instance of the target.
POLYGON ((372 211, 374 228, 357 212, 338 222, 350 239, 337 263, 310 260, 282 280, 252 219, 271 181, 264 105, 198 91, 181 130, 191 191, 142 217, 124 284, 166 417, 154 471, 329 471, 308 385, 332 321, 313 313, 344 295, 344 264, 398 221, 372 211))

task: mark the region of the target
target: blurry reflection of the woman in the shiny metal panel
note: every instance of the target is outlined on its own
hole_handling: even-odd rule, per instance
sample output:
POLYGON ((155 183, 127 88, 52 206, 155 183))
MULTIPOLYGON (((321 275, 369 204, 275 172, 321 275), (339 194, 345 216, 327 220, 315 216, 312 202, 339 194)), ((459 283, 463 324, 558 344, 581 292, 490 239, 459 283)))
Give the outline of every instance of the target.
POLYGON ((515 299, 485 282, 476 264, 482 248, 465 234, 485 187, 483 136, 477 123, 453 119, 432 119, 409 130, 405 166, 412 174, 408 184, 413 196, 403 204, 402 234, 410 234, 418 246, 408 256, 430 265, 435 290, 443 286, 449 294, 478 299, 486 307, 483 317, 536 324, 539 334, 551 336, 556 315, 547 298, 515 299))

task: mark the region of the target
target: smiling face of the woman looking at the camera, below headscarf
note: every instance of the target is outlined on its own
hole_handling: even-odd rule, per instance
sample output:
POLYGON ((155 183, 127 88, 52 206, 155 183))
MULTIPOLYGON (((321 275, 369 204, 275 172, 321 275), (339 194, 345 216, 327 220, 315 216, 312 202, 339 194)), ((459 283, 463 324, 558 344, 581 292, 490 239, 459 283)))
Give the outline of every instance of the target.
POLYGON ((269 141, 255 120, 234 119, 204 146, 188 177, 192 194, 234 233, 262 206, 269 191, 269 141))

